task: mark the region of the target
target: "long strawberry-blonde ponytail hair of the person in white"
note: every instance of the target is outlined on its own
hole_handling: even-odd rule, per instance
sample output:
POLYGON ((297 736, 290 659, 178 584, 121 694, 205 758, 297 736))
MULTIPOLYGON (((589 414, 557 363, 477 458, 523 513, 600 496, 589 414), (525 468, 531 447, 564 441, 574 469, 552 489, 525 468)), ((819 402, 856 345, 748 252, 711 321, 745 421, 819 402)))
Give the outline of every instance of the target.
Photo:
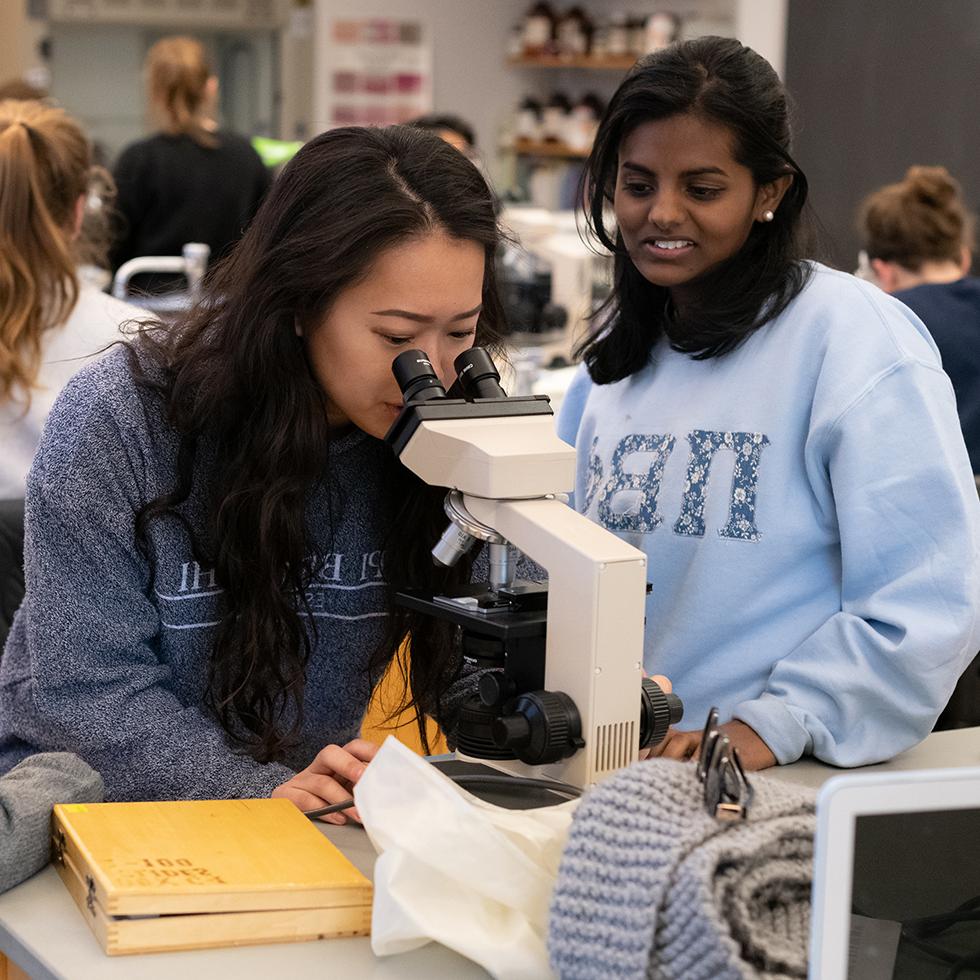
POLYGON ((78 300, 75 207, 91 155, 79 125, 41 102, 0 102, 0 402, 30 389, 45 330, 78 300))

